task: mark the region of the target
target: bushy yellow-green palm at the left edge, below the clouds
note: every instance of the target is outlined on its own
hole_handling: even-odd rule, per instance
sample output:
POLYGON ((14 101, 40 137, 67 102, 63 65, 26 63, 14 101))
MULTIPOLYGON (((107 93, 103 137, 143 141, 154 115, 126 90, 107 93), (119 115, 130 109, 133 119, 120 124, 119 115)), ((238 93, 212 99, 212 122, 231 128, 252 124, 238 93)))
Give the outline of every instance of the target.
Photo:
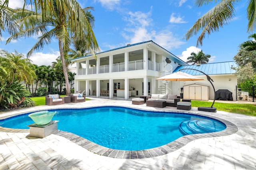
POLYGON ((33 82, 36 74, 34 72, 34 65, 30 59, 24 58, 24 55, 15 51, 14 53, 8 53, 8 51, 0 51, 2 55, 1 63, 4 66, 6 72, 8 72, 8 85, 14 82, 14 79, 24 80, 25 82, 33 82))

